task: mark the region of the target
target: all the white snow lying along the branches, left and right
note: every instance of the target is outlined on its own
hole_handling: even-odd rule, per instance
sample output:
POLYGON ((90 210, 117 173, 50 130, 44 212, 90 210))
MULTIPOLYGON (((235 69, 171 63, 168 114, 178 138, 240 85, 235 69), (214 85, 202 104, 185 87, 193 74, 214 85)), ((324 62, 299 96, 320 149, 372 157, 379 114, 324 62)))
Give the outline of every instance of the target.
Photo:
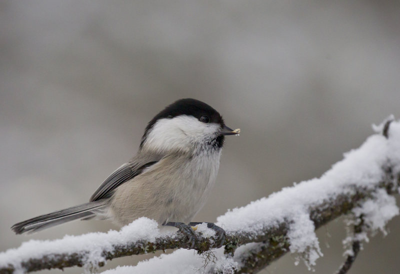
MULTIPOLYGON (((392 119, 389 117, 388 119, 392 119)), ((309 218, 309 208, 320 205, 323 201, 334 199, 337 195, 351 194, 354 187, 375 189, 385 177, 384 168, 388 164, 394 172, 400 171, 400 122, 390 124, 386 139, 381 131, 383 124, 374 126, 379 131, 366 139, 358 148, 344 154, 343 160, 332 165, 320 178, 295 183, 291 187, 272 193, 250 204, 234 208, 217 218, 217 225, 227 232, 241 231, 256 235, 264 228, 272 228, 281 222, 289 223, 287 236, 290 241, 290 252, 300 255, 306 266, 312 269, 322 253, 318 238, 314 232, 314 224, 309 218)), ((399 214, 395 199, 384 189, 377 189, 373 198, 366 200, 352 210, 355 216, 363 215, 365 223, 371 231, 380 230, 385 233, 384 226, 391 218, 399 214)), ((205 236, 213 235, 213 231, 205 224, 198 225, 198 232, 205 236)), ((8 263, 20 269, 20 262, 30 257, 41 257, 53 252, 82 252, 87 254, 87 264, 104 261, 102 250, 110 250, 113 244, 124 244, 139 239, 152 241, 159 236, 157 224, 146 218, 140 218, 119 232, 89 233, 81 236, 65 236, 56 241, 28 241, 19 248, 0 253, 0 267, 8 263)), ((358 234, 366 239, 366 234, 358 234)), ((350 240, 350 239, 347 239, 350 240)), ((219 269, 223 273, 232 272, 240 266, 240 257, 257 244, 248 244, 237 249, 233 258, 223 254, 223 248, 212 250, 215 262, 209 261, 204 266, 204 254, 198 255, 193 250, 179 249, 171 254, 162 254, 136 266, 122 266, 104 273, 193 273, 219 269)), ((210 254, 210 253, 208 253, 210 254)), ((212 256, 211 256, 212 257, 212 256)))

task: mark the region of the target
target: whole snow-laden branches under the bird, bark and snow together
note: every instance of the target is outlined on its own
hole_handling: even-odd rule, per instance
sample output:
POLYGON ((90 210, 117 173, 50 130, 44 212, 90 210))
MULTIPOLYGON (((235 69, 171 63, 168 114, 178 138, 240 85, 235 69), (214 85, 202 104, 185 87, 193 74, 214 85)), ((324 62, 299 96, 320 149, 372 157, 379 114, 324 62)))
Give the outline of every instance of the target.
MULTIPOLYGON (((394 197, 400 184, 400 122, 389 119, 374 126, 376 134, 344 154, 320 178, 285 187, 281 191, 218 217, 225 229, 225 248, 216 247, 213 232, 199 225, 193 250, 178 249, 136 266, 122 266, 104 273, 254 272, 290 251, 311 268, 322 255, 315 229, 334 218, 351 214, 353 224, 362 217, 363 231, 348 242, 365 240, 367 230, 381 230, 398 215, 394 197), (210 252, 209 250, 212 250, 210 252)), ((174 248, 189 248, 180 233, 162 234, 157 224, 140 218, 107 233, 65 236, 54 241, 30 240, 0 253, 0 273, 102 266, 116 257, 174 248)), ((351 256, 351 250, 348 251, 351 256)), ((354 258, 356 254, 353 254, 354 258)), ((298 262, 298 261, 297 261, 298 262)))

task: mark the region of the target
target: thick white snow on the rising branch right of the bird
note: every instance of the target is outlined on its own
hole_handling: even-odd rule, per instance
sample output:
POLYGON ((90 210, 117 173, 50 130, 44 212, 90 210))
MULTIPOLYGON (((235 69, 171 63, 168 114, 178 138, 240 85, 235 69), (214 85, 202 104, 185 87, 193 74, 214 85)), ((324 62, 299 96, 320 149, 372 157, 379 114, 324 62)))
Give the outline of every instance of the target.
MULTIPOLYGON (((392 117, 388 119, 390 118, 392 117)), ((396 170, 400 170, 400 124, 391 123, 389 139, 381 134, 383 124, 375 126, 375 129, 380 130, 379 133, 367 138, 360 148, 345 153, 344 159, 334 164, 320 178, 297 183, 272 193, 268 198, 234 208, 219 216, 216 224, 226 231, 242 231, 255 235, 264 227, 273 227, 287 221, 291 223, 287 235, 290 251, 300 253, 310 268, 322 253, 308 209, 324 200, 333 199, 338 194, 352 193, 353 186, 369 189, 376 187, 384 177, 382 167, 387 161, 396 170)), ((398 215, 394 198, 387 194, 383 197, 382 191, 378 190, 377 197, 380 198, 364 203, 363 210, 370 209, 366 218, 372 224, 371 229, 382 230, 388 220, 398 215)))

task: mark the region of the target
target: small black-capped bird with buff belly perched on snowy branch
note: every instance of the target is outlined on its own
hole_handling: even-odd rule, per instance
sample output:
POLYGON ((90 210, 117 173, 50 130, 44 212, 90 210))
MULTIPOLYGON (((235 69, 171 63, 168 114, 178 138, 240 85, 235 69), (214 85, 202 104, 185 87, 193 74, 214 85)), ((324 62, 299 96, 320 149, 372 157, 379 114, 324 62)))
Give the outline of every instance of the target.
MULTIPOLYGON (((194 246, 191 222, 215 183, 225 135, 221 115, 195 99, 180 99, 147 124, 137 154, 98 187, 89 202, 14 224, 16 234, 32 233, 75 219, 110 219, 126 225, 139 217, 174 226, 194 246)), ((225 232, 213 223, 221 246, 225 232)))

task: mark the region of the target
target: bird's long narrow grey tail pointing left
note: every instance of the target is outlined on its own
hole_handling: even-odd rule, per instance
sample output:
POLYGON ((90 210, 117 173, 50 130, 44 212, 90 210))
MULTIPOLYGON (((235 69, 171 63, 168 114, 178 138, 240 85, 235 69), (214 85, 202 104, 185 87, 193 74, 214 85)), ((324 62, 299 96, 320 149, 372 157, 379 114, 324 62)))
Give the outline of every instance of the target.
POLYGON ((40 215, 14 224, 11 229, 16 234, 33 233, 54 225, 77 219, 91 219, 106 206, 105 200, 98 200, 71 206, 59 211, 40 215))

